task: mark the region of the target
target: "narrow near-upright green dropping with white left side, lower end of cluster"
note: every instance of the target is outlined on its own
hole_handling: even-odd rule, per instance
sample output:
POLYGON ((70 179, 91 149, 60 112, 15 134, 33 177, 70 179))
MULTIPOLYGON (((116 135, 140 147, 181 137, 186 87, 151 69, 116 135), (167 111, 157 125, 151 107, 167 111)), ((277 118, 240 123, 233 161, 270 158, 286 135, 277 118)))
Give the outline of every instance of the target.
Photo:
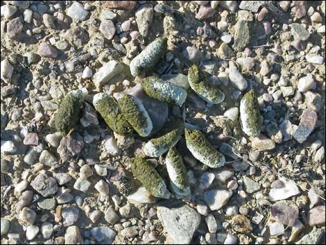
POLYGON ((173 192, 179 196, 187 196, 190 193, 187 169, 175 146, 167 153, 165 164, 173 192))

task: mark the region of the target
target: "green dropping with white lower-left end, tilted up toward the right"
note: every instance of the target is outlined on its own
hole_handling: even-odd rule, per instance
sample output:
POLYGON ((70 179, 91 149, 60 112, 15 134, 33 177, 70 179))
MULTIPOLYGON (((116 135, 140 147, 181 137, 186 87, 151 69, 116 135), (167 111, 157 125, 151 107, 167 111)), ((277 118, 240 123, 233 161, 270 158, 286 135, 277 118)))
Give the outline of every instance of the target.
POLYGON ((148 141, 144 146, 144 153, 150 157, 157 158, 169 151, 169 149, 177 144, 183 133, 183 122, 181 120, 173 120, 169 122, 169 128, 166 128, 166 134, 148 141))

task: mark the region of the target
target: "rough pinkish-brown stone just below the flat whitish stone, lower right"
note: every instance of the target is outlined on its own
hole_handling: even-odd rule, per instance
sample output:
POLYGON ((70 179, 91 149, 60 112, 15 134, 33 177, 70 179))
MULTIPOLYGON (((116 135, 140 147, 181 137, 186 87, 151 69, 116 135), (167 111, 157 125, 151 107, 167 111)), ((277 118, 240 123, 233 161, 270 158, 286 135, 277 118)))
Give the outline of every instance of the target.
POLYGON ((286 226, 294 226, 299 208, 293 201, 278 201, 272 205, 272 217, 286 226))

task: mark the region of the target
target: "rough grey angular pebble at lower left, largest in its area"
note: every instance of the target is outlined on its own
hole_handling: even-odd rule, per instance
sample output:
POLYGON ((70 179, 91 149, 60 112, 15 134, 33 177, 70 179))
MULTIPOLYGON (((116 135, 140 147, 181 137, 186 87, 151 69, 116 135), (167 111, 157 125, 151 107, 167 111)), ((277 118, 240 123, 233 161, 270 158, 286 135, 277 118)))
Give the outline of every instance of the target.
POLYGON ((42 196, 52 196, 58 191, 58 183, 46 174, 38 174, 31 182, 31 187, 42 196))

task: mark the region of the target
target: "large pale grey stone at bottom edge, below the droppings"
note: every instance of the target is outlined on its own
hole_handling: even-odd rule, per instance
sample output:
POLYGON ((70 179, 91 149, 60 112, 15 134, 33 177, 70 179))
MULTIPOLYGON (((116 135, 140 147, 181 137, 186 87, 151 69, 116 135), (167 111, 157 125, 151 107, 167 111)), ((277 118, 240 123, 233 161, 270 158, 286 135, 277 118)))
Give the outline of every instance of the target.
POLYGON ((200 223, 200 215, 187 205, 175 209, 158 207, 157 217, 176 244, 190 244, 200 223))

